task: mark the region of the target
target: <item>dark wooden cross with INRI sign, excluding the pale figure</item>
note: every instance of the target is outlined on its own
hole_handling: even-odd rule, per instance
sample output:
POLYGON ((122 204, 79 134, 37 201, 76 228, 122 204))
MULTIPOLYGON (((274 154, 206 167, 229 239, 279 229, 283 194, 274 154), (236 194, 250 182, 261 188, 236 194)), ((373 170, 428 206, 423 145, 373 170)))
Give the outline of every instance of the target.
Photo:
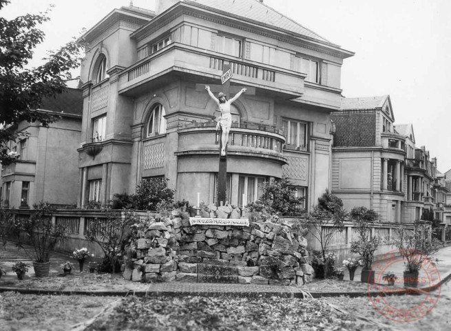
MULTIPOLYGON (((229 64, 224 64, 222 66, 222 79, 224 76, 227 76, 227 72, 229 72, 230 66, 229 64)), ((230 78, 231 75, 227 76, 227 79, 224 81, 222 86, 210 86, 211 92, 217 92, 222 87, 222 92, 227 97, 227 100, 230 99, 230 78)), ((200 84, 196 84, 196 90, 200 90, 200 88, 204 88, 204 86, 200 87, 200 84)), ((241 89, 240 89, 241 90, 241 89)), ((255 94, 255 88, 248 88, 246 91, 247 94, 255 94), (248 92, 249 90, 249 92, 248 92)), ((222 127, 220 127, 220 138, 222 137, 222 127)), ((228 137, 227 137, 228 138, 228 137)), ((219 150, 222 151, 222 139, 219 139, 219 150)), ((218 203, 222 205, 223 203, 227 203, 227 143, 224 148, 225 152, 222 154, 219 153, 219 171, 218 171, 218 203)))

